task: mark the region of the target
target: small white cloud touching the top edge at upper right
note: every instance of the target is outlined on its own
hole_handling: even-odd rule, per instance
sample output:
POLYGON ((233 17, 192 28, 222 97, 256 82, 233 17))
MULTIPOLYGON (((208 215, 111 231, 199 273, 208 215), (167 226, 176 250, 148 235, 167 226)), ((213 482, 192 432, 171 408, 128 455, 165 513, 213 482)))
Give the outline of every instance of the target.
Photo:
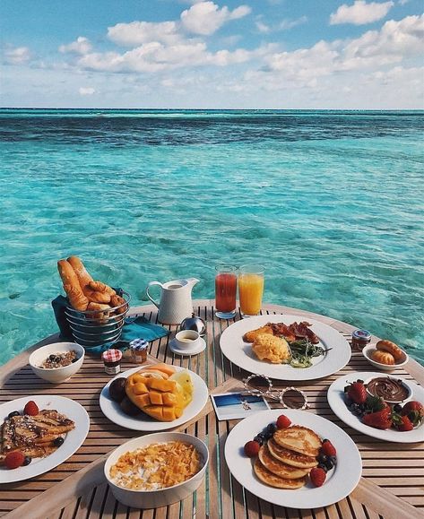
POLYGON ((353 23, 354 25, 363 25, 364 23, 372 23, 381 20, 394 6, 394 2, 370 2, 367 4, 365 0, 355 0, 353 5, 343 4, 335 13, 330 15, 330 24, 353 23))

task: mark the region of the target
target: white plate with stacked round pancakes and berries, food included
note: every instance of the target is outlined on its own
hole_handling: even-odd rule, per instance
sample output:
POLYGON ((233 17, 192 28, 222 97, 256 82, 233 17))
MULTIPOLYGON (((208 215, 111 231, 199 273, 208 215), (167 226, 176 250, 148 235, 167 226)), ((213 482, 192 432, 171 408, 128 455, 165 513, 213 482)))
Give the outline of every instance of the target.
POLYGON ((329 506, 349 496, 362 472, 358 447, 311 412, 259 411, 231 429, 224 449, 231 474, 274 505, 329 506))

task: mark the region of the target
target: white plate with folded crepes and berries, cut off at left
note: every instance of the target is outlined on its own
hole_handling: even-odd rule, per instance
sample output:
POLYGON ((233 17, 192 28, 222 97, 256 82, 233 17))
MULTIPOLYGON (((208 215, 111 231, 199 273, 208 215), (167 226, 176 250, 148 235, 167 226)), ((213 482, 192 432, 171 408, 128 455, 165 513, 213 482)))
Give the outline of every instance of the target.
POLYGON ((39 476, 65 462, 90 429, 87 411, 64 396, 36 394, 0 405, 0 483, 39 476))

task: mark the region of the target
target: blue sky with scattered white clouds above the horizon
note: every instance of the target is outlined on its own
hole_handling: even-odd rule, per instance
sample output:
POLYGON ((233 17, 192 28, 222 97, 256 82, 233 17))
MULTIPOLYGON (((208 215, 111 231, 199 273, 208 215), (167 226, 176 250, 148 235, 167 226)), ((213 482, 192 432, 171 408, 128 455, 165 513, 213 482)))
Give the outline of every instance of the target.
POLYGON ((2 0, 0 106, 424 108, 418 0, 2 0))

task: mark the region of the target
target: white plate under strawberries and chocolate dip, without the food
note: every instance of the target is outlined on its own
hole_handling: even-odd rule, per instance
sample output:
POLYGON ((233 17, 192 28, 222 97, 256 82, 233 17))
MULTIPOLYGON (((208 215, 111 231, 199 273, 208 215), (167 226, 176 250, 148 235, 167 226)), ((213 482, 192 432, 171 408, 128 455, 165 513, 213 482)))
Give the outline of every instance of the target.
MULTIPOLYGON (((340 420, 344 421, 346 425, 351 428, 364 433, 368 437, 374 437, 379 440, 385 440, 387 442, 398 442, 401 444, 414 444, 417 442, 424 442, 424 424, 420 427, 414 428, 411 431, 396 431, 394 429, 378 429, 369 427, 360 421, 360 419, 349 411, 347 405, 344 403, 344 387, 351 382, 356 380, 367 380, 368 378, 386 376, 385 373, 373 373, 373 372, 360 372, 351 373, 350 375, 340 376, 333 382, 328 388, 327 400, 333 413, 337 415, 340 420)), ((402 376, 389 375, 392 378, 399 378, 402 380, 404 385, 410 387, 412 391, 411 400, 418 400, 424 403, 424 389, 420 385, 411 382, 411 380, 405 380, 402 376)))

